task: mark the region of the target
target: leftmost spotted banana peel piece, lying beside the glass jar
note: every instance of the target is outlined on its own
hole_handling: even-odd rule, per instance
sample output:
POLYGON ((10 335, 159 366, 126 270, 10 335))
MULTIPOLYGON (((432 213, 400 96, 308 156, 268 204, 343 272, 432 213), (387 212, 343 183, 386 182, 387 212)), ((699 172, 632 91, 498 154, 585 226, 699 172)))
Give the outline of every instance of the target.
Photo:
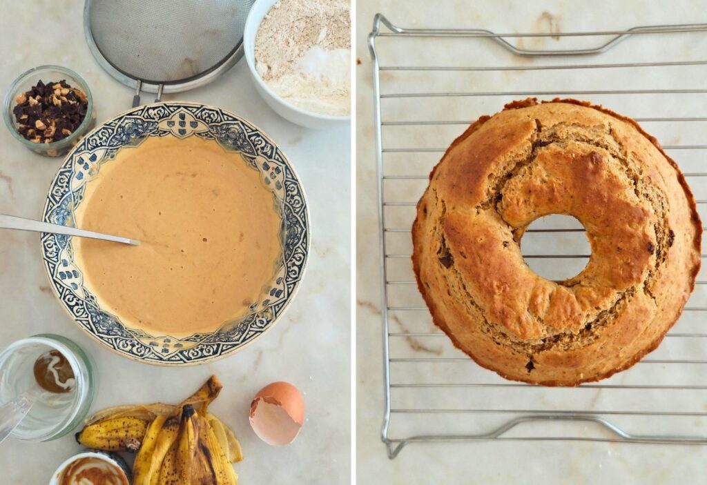
POLYGON ((147 431, 148 421, 135 417, 105 419, 76 433, 76 441, 87 448, 106 451, 136 451, 147 431))

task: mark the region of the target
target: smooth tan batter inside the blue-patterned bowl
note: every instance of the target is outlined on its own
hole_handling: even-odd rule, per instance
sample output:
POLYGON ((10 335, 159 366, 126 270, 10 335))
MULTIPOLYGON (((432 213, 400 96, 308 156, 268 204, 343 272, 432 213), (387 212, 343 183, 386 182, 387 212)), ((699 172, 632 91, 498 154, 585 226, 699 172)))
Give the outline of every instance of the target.
POLYGON ((213 332, 264 298, 282 258, 282 217, 261 174, 212 140, 150 137, 86 186, 76 226, 139 239, 74 239, 102 309, 151 335, 213 332))

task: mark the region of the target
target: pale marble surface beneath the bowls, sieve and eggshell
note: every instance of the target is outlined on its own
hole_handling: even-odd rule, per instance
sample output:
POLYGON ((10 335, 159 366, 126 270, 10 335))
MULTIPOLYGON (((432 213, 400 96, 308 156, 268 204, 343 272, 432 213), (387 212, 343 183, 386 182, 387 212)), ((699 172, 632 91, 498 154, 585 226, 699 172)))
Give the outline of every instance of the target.
MULTIPOLYGON (((130 107, 132 92, 95 63, 83 37, 83 1, 3 1, 0 6, 0 86, 41 64, 74 69, 88 82, 98 122, 130 107)), ((211 374, 223 381, 214 413, 240 438, 243 484, 344 484, 350 471, 350 133, 312 131, 279 118, 260 99, 245 61, 216 82, 165 100, 216 104, 249 119, 279 143, 296 167, 310 203, 312 253, 300 292, 268 335, 227 359, 184 369, 129 361, 100 346, 69 320, 47 286, 37 234, 0 231, 0 347, 36 333, 78 342, 98 362, 93 410, 133 402, 178 402, 211 374), (271 448, 247 421, 252 396, 271 381, 305 393, 306 423, 297 441, 271 448)), ((146 95, 144 100, 150 100, 146 95)), ((0 212, 40 217, 61 160, 23 148, 0 127, 0 212)), ((43 484, 77 453, 73 436, 51 443, 0 445, 6 484, 43 484)))

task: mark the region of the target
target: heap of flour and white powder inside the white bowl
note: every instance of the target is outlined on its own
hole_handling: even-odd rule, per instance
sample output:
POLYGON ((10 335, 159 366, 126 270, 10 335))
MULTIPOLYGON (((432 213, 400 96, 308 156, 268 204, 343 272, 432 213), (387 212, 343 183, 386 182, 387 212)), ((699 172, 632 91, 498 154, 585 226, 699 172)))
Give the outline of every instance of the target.
POLYGON ((281 98, 307 111, 351 114, 351 5, 281 0, 255 37, 255 68, 281 98))

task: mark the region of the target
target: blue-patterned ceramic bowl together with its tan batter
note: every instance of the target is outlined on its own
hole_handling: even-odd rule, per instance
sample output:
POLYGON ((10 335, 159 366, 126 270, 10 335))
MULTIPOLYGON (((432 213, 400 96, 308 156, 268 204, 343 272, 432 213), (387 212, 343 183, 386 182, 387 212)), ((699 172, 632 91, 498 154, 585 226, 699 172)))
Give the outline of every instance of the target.
POLYGON ((49 281, 78 325, 151 364, 242 349, 274 325, 303 277, 305 194, 259 128, 217 107, 136 107, 67 155, 43 219, 139 239, 42 234, 49 281))

